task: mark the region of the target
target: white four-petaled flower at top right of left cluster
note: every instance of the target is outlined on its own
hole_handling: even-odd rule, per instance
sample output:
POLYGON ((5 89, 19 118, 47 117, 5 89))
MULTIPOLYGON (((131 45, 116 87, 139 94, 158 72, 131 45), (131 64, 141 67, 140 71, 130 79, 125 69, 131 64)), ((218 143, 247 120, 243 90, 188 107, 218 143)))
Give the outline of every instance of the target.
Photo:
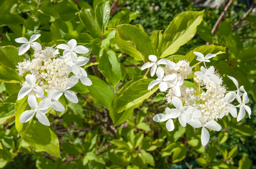
POLYGON ((63 51, 63 56, 65 57, 71 57, 71 59, 74 61, 74 63, 76 63, 77 61, 77 55, 76 54, 86 54, 89 52, 88 48, 82 46, 82 45, 78 45, 76 46, 76 40, 75 39, 71 39, 69 42, 67 42, 66 44, 60 44, 58 46, 56 46, 57 48, 60 48, 63 51))

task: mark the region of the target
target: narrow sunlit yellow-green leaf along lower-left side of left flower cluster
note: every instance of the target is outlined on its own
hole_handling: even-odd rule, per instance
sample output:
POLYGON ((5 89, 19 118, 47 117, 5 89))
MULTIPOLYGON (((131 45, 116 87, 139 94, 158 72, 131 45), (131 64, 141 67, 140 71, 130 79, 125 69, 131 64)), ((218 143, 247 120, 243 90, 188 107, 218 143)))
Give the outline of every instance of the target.
POLYGON ((18 134, 23 134, 28 126, 29 123, 31 123, 31 120, 27 123, 20 123, 20 115, 22 115, 23 112, 28 110, 28 101, 27 96, 25 96, 22 100, 16 100, 15 103, 15 127, 18 131, 18 134))

